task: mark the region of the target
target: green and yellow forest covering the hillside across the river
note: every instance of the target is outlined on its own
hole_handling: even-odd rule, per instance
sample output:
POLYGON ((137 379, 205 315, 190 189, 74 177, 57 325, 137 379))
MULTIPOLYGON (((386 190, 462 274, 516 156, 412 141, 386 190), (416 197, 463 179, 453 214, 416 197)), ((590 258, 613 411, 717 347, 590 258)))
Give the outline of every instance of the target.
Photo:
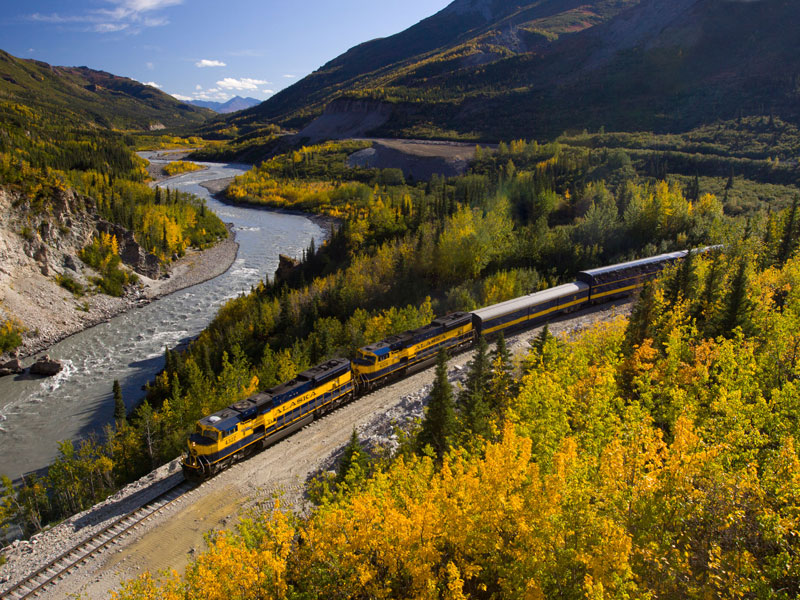
MULTIPOLYGON (((7 101, 0 102, 0 121, 0 185, 15 195, 15 206, 28 215, 30 227, 23 235, 32 235, 52 212, 53 203, 72 190, 83 210, 132 231, 164 264, 190 247, 206 248, 227 237, 222 221, 199 199, 150 189, 146 162, 132 150, 141 139, 111 130, 77 129, 44 110, 7 101)), ((191 140, 165 136, 162 144, 181 141, 191 140)), ((103 246, 111 250, 110 240, 98 237, 81 257, 98 271, 98 291, 121 296, 133 274, 120 267, 116 250, 110 253, 114 256, 100 256, 103 246)), ((69 276, 59 283, 73 292, 85 291, 69 276)), ((8 343, 3 345, 3 350, 9 349, 8 343)))

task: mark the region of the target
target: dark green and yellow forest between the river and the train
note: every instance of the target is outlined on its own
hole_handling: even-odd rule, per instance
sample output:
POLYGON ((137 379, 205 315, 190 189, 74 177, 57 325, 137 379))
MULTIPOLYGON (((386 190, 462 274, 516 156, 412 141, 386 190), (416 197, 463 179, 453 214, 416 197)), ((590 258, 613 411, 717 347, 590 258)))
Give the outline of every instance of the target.
MULTIPOLYGON (((515 141, 480 149, 464 176, 412 184, 392 170, 349 169, 348 151, 362 146, 298 148, 231 184, 234 201, 243 190, 247 202, 323 212, 340 226, 285 279, 226 304, 185 351, 166 349, 145 401, 102 436, 64 442, 46 476, 6 497, 16 506, 7 519, 33 533, 82 510, 179 456, 200 417, 435 315, 569 281, 584 268, 727 242, 743 229, 777 240, 789 219, 788 208, 727 215, 713 194, 639 175, 606 149, 515 141)), ((114 206, 106 179, 87 181, 114 206)), ((137 214, 118 208, 117 219, 137 214)))

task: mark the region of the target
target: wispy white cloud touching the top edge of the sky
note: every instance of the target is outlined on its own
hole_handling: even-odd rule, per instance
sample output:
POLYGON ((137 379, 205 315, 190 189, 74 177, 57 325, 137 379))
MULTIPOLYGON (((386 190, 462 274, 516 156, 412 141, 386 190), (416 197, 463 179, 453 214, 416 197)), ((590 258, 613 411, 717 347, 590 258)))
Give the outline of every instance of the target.
POLYGON ((84 30, 97 33, 127 31, 139 33, 146 27, 169 24, 163 15, 150 14, 169 6, 183 4, 184 0, 103 0, 107 8, 96 8, 79 14, 34 13, 30 19, 40 23, 84 25, 84 30))

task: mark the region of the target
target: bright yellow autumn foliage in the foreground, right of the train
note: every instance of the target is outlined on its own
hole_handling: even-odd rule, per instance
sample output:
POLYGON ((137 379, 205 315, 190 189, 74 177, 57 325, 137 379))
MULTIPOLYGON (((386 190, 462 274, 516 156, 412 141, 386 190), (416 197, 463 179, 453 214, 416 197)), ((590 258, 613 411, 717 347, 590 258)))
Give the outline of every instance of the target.
POLYGON ((630 350, 623 318, 533 348, 493 439, 401 453, 116 597, 791 597, 800 260, 753 275, 753 334, 704 337, 666 297, 630 350))

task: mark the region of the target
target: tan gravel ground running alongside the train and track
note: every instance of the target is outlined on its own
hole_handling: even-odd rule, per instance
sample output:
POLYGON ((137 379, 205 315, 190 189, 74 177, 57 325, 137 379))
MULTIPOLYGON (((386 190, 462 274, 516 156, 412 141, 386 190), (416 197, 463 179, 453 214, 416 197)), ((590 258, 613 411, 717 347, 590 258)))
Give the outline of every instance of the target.
MULTIPOLYGON (((630 313, 629 301, 595 307, 562 317, 549 324, 554 335, 571 334, 630 313)), ((539 329, 510 336, 514 355, 524 354, 539 329)), ((472 352, 449 362, 454 384, 465 377, 472 352)), ((65 598, 80 594, 85 599, 105 599, 112 590, 144 571, 185 568, 205 548, 204 535, 235 525, 238 518, 256 508, 280 504, 303 512, 308 478, 335 467, 355 427, 368 448, 396 446, 395 427, 407 428, 420 419, 433 382, 434 369, 416 373, 377 390, 315 421, 286 440, 251 459, 234 465, 152 517, 119 544, 89 559, 40 597, 65 598)), ((0 589, 6 589, 60 553, 90 537, 120 515, 154 498, 182 479, 179 460, 156 469, 102 504, 49 529, 30 542, 15 542, 4 553, 8 563, 0 567, 0 589)))

